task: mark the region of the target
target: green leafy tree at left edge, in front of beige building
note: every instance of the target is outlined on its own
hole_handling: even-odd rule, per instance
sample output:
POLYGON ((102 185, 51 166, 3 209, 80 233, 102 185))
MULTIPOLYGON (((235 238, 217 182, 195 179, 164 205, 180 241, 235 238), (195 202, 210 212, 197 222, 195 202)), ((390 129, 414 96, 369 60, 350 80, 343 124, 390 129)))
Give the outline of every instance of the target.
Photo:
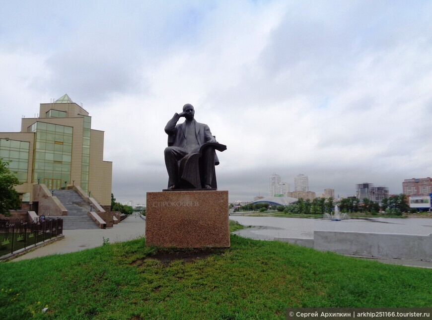
POLYGON ((10 210, 19 209, 21 201, 19 193, 13 189, 14 186, 21 185, 9 171, 9 163, 0 159, 0 213, 10 216, 10 210))

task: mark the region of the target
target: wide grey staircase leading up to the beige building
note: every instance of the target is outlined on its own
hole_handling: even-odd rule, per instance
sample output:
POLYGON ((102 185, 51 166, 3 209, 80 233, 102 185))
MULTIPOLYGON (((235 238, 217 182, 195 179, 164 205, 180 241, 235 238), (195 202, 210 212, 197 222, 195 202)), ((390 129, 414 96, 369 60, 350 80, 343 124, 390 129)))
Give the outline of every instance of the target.
POLYGON ((99 229, 94 221, 87 216, 87 212, 90 211, 90 204, 81 198, 78 192, 73 190, 55 190, 54 196, 68 210, 68 215, 61 217, 63 219, 63 230, 99 229))

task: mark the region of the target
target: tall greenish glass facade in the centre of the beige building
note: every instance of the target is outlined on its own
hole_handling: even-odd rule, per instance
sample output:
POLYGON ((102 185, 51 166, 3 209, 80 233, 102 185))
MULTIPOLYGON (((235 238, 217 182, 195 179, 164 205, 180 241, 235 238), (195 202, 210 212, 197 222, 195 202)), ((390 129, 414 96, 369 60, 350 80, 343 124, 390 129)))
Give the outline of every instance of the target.
POLYGON ((72 127, 36 122, 32 182, 60 189, 71 182, 72 127))

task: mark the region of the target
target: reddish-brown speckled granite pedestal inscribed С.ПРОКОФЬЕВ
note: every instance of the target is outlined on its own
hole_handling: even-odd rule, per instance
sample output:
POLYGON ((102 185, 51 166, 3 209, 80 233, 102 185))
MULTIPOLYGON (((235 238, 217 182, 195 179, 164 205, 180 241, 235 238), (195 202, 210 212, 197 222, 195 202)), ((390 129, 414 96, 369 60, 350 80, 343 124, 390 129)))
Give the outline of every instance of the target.
POLYGON ((227 191, 147 192, 147 246, 227 248, 227 191))

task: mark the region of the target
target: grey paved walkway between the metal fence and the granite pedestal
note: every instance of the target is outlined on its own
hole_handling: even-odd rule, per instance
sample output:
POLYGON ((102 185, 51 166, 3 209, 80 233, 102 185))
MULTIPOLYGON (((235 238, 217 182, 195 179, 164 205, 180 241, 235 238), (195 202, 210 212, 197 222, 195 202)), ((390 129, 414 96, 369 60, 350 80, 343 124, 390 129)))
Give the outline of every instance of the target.
POLYGON ((145 222, 139 216, 130 216, 110 229, 92 230, 63 230, 65 238, 48 246, 38 248, 28 254, 19 256, 11 261, 20 261, 39 256, 67 254, 102 246, 103 240, 110 243, 124 242, 143 237, 145 222))

